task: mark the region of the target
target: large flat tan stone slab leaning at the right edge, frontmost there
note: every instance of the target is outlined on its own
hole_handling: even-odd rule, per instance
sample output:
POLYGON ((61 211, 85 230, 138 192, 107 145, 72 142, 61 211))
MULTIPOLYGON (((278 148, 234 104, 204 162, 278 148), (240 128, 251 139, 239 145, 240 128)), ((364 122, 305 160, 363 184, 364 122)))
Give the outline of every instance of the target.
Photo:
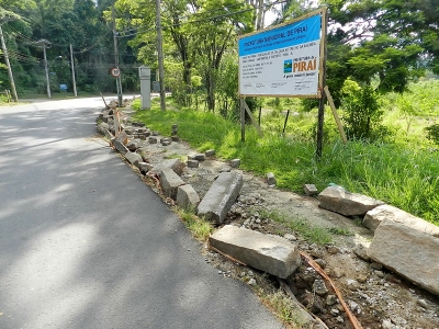
POLYGON ((439 238, 384 219, 368 256, 391 271, 439 295, 439 238))

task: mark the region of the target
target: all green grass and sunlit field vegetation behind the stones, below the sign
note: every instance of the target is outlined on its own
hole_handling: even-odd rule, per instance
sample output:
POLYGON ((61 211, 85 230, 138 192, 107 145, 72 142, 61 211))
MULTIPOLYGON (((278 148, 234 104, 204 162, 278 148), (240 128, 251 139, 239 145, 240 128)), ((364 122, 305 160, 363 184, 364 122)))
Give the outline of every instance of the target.
MULTIPOLYGON (((382 114, 369 138, 357 137, 351 129, 347 145, 341 143, 331 112, 326 109, 320 160, 315 157, 316 109, 307 111, 306 103, 297 100, 264 99, 264 137, 247 125, 245 143, 236 120, 179 106, 172 98, 167 103, 175 111, 160 111, 155 100, 153 110, 138 110, 136 116, 162 134, 170 134, 171 125, 178 124, 180 138, 192 147, 200 151, 214 148, 224 160, 240 158, 243 169, 260 177, 273 172, 280 189, 303 193, 305 183, 314 183, 320 191, 335 183, 439 225, 438 87, 439 82, 431 79, 410 84, 403 94, 376 95, 376 111, 382 114), (293 113, 283 133, 288 110, 293 113)), ((133 106, 138 109, 138 101, 133 106)), ((341 106, 345 126, 349 115, 341 106)))

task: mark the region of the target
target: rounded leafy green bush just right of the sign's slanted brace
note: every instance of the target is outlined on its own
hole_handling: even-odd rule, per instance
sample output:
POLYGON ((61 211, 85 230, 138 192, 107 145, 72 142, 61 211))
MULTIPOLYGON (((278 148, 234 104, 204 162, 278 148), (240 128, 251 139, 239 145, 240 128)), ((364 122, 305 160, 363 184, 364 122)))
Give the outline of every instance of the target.
POLYGON ((342 121, 350 139, 374 140, 382 137, 383 111, 379 95, 370 86, 360 87, 348 79, 341 90, 342 121))

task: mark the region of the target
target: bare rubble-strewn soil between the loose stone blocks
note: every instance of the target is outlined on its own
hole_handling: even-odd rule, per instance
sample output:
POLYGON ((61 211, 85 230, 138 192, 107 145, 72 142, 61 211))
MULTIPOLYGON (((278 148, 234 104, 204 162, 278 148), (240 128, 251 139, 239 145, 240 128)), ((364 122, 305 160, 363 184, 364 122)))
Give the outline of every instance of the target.
MULTIPOLYGON (((171 127, 169 134, 170 132, 171 127)), ((144 149, 151 164, 158 164, 166 158, 185 159, 188 155, 195 152, 182 141, 166 147, 146 141, 144 149)), ((200 197, 203 197, 225 166, 227 166, 225 161, 207 159, 200 162, 199 168, 185 168, 182 179, 195 189, 200 197)), ((280 191, 270 188, 262 179, 249 172, 232 170, 243 173, 244 188, 224 224, 281 235, 292 240, 300 250, 311 254, 325 270, 363 328, 439 329, 438 296, 358 256, 362 254, 361 246, 368 247, 373 238, 373 235, 359 225, 358 220, 319 208, 316 197, 280 191), (309 227, 333 228, 331 231, 340 235, 334 235, 330 245, 309 243, 304 236, 291 230, 286 224, 270 218, 272 212, 283 214, 283 218, 289 220, 300 219, 309 227)), ((154 181, 150 182, 153 189, 159 193, 154 181)), ((206 246, 203 246, 202 250, 206 262, 218 269, 218 275, 243 280, 252 285, 256 292, 279 288, 275 277, 239 265, 209 251, 206 246)), ((320 280, 322 276, 303 262, 303 265, 285 282, 297 299, 328 328, 352 328, 330 286, 326 284, 328 290, 326 292, 325 287, 319 286, 320 280)))

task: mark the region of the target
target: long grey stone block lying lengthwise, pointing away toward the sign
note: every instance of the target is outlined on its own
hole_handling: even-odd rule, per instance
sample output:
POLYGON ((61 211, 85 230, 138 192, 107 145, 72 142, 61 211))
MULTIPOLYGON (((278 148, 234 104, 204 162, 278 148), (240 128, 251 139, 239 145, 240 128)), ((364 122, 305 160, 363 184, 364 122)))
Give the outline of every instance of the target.
POLYGON ((198 214, 215 220, 216 224, 223 223, 227 212, 238 197, 243 184, 243 175, 239 173, 219 173, 199 204, 198 214))

